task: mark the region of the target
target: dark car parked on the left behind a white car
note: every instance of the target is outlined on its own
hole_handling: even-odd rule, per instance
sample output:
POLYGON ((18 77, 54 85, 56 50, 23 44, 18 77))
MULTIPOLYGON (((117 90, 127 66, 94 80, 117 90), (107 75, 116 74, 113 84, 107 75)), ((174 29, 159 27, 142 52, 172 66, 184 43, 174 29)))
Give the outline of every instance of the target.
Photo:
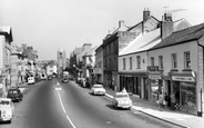
POLYGON ((19 88, 13 87, 8 90, 7 98, 11 98, 12 101, 21 101, 22 97, 23 95, 19 88))

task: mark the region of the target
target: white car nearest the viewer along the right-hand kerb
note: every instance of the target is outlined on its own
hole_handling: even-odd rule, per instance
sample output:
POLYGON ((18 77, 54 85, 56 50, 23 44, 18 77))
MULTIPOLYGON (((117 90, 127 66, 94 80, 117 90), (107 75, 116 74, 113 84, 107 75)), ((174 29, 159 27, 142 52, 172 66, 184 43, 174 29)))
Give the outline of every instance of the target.
POLYGON ((130 99, 129 93, 123 91, 115 92, 112 104, 115 108, 131 109, 132 107, 132 100, 130 99))

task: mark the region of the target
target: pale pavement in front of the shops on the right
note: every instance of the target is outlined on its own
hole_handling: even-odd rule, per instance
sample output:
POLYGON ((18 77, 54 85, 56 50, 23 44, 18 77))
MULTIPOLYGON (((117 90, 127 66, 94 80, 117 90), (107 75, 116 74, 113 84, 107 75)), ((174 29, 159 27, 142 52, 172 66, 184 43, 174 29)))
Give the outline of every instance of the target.
MULTIPOLYGON (((112 89, 106 89, 105 96, 109 98, 113 98, 114 93, 115 91, 113 91, 112 89)), ((135 95, 130 95, 130 98, 133 101, 132 109, 136 111, 143 112, 145 115, 176 125, 182 128, 204 128, 204 117, 184 114, 180 110, 159 108, 155 102, 140 99, 135 95)))

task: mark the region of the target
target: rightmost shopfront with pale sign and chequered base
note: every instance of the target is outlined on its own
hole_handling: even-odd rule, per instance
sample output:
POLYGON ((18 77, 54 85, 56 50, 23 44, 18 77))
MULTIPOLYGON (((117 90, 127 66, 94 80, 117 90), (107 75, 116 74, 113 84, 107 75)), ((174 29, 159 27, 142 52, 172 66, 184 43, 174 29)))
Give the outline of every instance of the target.
POLYGON ((196 115, 196 82, 190 75, 172 75, 172 90, 175 93, 176 109, 196 115))

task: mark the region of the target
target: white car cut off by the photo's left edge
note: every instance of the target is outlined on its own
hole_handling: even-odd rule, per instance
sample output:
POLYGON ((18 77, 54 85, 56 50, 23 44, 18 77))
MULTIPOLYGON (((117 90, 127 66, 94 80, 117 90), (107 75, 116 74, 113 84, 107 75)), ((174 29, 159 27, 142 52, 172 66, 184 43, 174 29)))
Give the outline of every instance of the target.
POLYGON ((10 98, 0 98, 0 121, 8 121, 11 124, 11 119, 14 114, 14 105, 10 98))

